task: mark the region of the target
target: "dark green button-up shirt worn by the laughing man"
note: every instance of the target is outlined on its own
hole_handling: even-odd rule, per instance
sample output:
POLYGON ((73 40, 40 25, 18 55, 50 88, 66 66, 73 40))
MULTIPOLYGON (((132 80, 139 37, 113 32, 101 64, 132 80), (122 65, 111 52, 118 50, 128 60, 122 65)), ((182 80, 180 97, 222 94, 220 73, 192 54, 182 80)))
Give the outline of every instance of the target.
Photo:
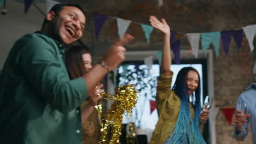
POLYGON ((0 75, 0 143, 82 142, 82 77, 70 80, 65 46, 43 32, 24 35, 0 75))

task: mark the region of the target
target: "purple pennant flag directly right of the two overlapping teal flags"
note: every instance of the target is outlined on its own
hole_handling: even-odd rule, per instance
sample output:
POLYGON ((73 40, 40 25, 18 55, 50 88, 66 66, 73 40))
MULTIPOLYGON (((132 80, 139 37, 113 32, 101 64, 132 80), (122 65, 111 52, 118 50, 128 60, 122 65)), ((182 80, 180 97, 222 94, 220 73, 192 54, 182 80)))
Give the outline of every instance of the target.
POLYGON ((223 44, 223 50, 225 52, 225 56, 228 55, 229 45, 230 45, 233 33, 234 33, 234 30, 220 32, 222 37, 222 44, 223 44))

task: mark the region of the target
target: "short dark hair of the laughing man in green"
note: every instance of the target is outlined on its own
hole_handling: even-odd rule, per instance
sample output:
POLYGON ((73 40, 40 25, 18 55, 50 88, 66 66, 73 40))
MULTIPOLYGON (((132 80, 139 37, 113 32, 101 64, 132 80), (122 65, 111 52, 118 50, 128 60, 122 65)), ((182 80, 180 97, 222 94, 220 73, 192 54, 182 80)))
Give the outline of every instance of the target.
MULTIPOLYGON (((80 5, 78 5, 78 4, 58 3, 58 4, 55 4, 55 5, 53 6, 53 8, 51 8, 49 11, 54 11, 55 15, 56 15, 56 16, 59 16, 59 13, 60 13, 60 11, 63 9, 63 7, 75 7, 75 8, 78 8, 78 9, 80 9, 80 10, 84 13, 84 15, 85 15, 85 11, 84 11, 83 8, 80 7, 80 5)), ((49 11, 48 11, 48 12, 49 12, 49 11)), ((44 19, 43 26, 45 25, 46 22, 47 22, 47 20, 44 19)))

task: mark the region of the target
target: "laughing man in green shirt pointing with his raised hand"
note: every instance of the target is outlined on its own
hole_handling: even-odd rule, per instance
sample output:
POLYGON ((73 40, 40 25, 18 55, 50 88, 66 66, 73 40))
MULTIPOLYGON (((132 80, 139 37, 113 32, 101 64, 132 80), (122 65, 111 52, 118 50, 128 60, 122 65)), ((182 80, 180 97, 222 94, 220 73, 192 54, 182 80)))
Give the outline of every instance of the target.
POLYGON ((0 143, 81 143, 79 106, 108 73, 124 61, 124 39, 101 62, 69 80, 65 47, 82 37, 85 15, 78 5, 56 4, 41 31, 14 44, 0 75, 0 143))

